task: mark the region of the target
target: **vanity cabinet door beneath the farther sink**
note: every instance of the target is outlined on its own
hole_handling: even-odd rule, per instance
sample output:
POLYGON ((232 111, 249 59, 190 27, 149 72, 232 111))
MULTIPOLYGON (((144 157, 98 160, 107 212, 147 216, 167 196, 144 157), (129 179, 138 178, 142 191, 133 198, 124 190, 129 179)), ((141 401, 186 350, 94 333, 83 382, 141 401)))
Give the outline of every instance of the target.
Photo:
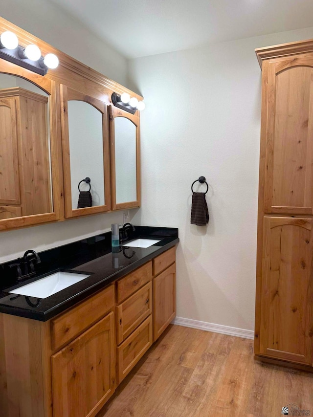
POLYGON ((153 279, 153 340, 176 316, 176 263, 153 279))

